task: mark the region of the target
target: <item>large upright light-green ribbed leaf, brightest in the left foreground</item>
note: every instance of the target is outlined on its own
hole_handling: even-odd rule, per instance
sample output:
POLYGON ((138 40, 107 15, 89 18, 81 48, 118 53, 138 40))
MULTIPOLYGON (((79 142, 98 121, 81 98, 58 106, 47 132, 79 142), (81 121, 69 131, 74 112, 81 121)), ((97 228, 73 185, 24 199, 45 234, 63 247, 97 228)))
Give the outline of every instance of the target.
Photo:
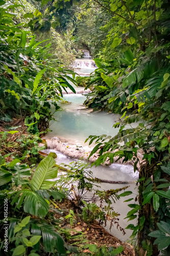
POLYGON ((56 161, 51 156, 46 156, 41 160, 31 180, 33 190, 49 189, 56 183, 52 180, 57 177, 58 173, 58 167, 53 168, 55 164, 56 161))

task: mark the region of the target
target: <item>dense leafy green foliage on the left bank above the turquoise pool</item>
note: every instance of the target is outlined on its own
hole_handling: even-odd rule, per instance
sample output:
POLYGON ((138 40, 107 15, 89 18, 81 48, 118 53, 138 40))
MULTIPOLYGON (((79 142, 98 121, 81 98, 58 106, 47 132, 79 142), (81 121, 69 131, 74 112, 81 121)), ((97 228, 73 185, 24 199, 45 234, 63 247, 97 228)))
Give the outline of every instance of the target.
POLYGON ((75 92, 68 80, 75 81, 66 74, 73 72, 60 66, 59 60, 49 59, 49 44, 41 47, 35 36, 15 26, 12 17, 6 16, 8 9, 16 5, 0 7, 3 28, 0 42, 1 120, 11 121, 19 116, 21 120, 25 118, 29 132, 47 131, 53 119, 51 103, 57 111, 61 88, 69 87, 75 92))

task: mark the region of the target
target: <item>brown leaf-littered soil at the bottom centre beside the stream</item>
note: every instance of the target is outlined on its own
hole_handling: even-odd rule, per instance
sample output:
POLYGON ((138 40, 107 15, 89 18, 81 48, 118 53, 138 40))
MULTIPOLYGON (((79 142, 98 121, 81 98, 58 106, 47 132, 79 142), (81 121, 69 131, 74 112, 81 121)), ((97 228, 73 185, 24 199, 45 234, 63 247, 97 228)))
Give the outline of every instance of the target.
MULTIPOLYGON (((75 213, 75 222, 72 226, 70 226, 69 224, 69 219, 63 218, 63 222, 59 225, 59 229, 57 230, 58 232, 60 232, 61 236, 63 236, 67 244, 74 245, 80 248, 81 252, 90 252, 88 249, 84 248, 86 244, 95 244, 98 247, 106 246, 114 248, 122 245, 124 247, 124 251, 122 252, 122 254, 119 255, 135 256, 134 248, 130 244, 122 242, 116 237, 112 236, 112 234, 106 231, 105 228, 101 226, 98 221, 93 221, 90 223, 84 222, 81 217, 82 210, 74 202, 66 199, 61 203, 56 203, 60 209, 63 209, 62 217, 69 214, 68 209, 72 209, 75 213), (62 231, 63 229, 66 229, 69 232, 69 236, 62 231), (80 236, 81 233, 83 233, 83 237, 80 236)), ((54 217, 56 219, 59 219, 61 218, 61 215, 55 214, 54 217)))

